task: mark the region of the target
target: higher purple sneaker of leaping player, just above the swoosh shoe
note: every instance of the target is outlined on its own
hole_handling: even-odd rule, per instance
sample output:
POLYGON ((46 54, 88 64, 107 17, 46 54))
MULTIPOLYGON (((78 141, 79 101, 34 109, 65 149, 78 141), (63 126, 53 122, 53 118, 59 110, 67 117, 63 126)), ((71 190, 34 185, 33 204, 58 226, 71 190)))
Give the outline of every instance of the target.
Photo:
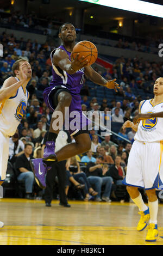
POLYGON ((55 161, 57 160, 57 156, 54 153, 55 151, 55 142, 47 141, 46 146, 43 152, 43 160, 44 161, 55 161))

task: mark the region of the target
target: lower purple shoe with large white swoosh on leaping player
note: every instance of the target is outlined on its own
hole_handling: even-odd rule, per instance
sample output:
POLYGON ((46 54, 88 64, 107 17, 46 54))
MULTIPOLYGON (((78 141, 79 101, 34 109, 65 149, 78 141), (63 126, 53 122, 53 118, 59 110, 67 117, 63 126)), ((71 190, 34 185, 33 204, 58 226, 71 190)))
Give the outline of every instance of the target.
POLYGON ((32 167, 35 180, 41 188, 46 188, 45 175, 48 167, 43 163, 42 159, 31 159, 30 166, 32 167))

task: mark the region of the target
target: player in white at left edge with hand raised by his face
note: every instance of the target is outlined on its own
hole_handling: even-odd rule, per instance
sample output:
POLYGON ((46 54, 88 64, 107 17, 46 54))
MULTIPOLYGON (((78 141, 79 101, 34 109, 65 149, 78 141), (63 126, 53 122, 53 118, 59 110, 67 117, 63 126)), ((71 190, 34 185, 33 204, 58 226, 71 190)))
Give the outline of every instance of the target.
MULTIPOLYGON (((9 157, 9 137, 26 111, 29 93, 26 86, 32 77, 32 69, 26 59, 19 59, 12 65, 14 76, 4 81, 0 90, 0 185, 3 184, 9 157)), ((3 222, 0 222, 3 227, 3 222)))

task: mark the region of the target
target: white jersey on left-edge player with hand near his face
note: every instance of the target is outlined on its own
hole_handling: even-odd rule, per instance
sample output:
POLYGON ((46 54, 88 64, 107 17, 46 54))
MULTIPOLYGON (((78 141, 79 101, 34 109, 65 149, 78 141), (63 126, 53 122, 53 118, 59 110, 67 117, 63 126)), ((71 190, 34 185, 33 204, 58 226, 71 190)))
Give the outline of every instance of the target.
MULTIPOLYGON (((18 78, 15 77, 18 81, 18 78)), ((14 97, 10 97, 4 103, 0 102, 0 131, 5 135, 15 134, 24 112, 26 112, 28 92, 21 86, 14 97)))

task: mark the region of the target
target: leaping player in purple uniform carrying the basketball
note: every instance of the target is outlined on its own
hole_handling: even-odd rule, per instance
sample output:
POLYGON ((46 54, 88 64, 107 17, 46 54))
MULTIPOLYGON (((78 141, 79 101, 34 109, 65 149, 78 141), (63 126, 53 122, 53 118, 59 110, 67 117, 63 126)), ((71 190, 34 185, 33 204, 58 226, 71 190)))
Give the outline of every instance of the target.
MULTIPOLYGON (((65 107, 69 108, 69 113, 78 111, 80 120, 77 122, 75 129, 71 130, 71 127, 68 129, 76 142, 67 144, 55 153, 55 140, 59 130, 62 129, 62 124, 58 126, 58 129, 53 129, 53 124, 58 118, 54 117, 53 113, 43 160, 33 159, 30 161, 37 184, 42 188, 46 187, 45 174, 49 165, 48 161, 63 161, 74 155, 82 154, 91 148, 89 132, 83 129, 90 124, 90 120, 82 113, 80 104, 80 89, 83 86, 84 75, 101 86, 115 90, 119 88, 115 82, 116 79, 106 81, 89 66, 89 62, 87 59, 84 60, 84 56, 78 58, 78 54, 74 60, 71 58, 76 41, 76 29, 71 23, 64 23, 60 27, 59 38, 62 44, 51 52, 53 80, 50 87, 44 90, 43 99, 49 109, 55 111, 54 113, 56 111, 61 112, 63 118, 65 117, 65 107)), ((69 118, 69 121, 72 119, 74 118, 69 118)))

